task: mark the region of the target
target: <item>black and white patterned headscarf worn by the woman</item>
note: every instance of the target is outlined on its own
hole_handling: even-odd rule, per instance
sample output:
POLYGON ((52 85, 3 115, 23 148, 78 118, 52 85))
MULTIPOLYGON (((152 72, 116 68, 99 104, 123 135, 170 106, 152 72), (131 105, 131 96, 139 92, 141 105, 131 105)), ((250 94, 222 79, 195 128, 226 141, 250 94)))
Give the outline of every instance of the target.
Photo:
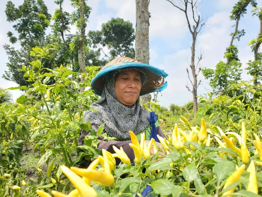
MULTIPOLYGON (((139 68, 124 68, 120 71, 136 69, 141 73, 142 86, 145 84, 146 75, 139 68)), ((120 71, 114 71, 105 76, 105 85, 101 95, 101 100, 93 103, 90 107, 97 110, 87 111, 84 115, 83 122, 91 122, 98 126, 104 125, 104 132, 108 136, 115 137, 119 141, 130 140, 129 131, 136 135, 144 131, 148 125, 150 112, 140 105, 140 97, 133 106, 123 105, 115 93, 115 74, 120 71)))

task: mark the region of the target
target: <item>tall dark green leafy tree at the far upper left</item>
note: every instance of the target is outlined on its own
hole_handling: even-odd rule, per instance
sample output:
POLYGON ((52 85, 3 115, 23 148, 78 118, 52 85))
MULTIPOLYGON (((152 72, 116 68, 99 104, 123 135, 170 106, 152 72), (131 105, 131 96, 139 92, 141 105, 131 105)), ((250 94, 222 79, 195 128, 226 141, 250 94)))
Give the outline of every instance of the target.
MULTIPOLYGON (((49 26, 51 15, 42 0, 24 0, 23 4, 15 7, 14 3, 8 1, 6 4, 5 14, 8 22, 15 23, 14 30, 18 33, 18 37, 14 33, 8 32, 9 41, 14 44, 17 41, 21 45, 20 50, 15 50, 8 44, 4 45, 4 49, 8 55, 7 63, 8 71, 5 71, 3 78, 8 81, 14 81, 20 86, 29 85, 30 82, 23 78, 22 65, 27 65, 33 57, 30 51, 35 46, 43 46, 45 43, 45 30, 49 26)), ((50 65, 45 65, 50 67, 50 65)))

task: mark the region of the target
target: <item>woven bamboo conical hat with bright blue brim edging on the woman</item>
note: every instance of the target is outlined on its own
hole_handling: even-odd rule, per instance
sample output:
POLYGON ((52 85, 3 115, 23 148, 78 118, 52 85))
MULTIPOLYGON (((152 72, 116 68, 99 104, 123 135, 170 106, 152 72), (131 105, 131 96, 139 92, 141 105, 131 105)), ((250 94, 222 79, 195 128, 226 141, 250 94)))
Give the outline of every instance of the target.
POLYGON ((166 78, 168 74, 163 70, 141 63, 129 57, 119 57, 113 59, 101 68, 95 78, 91 81, 92 90, 94 90, 97 95, 101 96, 104 88, 104 75, 111 71, 121 70, 122 68, 128 67, 139 67, 147 76, 147 80, 141 88, 140 96, 156 91, 162 91, 167 87, 167 82, 164 82, 164 78, 166 78))

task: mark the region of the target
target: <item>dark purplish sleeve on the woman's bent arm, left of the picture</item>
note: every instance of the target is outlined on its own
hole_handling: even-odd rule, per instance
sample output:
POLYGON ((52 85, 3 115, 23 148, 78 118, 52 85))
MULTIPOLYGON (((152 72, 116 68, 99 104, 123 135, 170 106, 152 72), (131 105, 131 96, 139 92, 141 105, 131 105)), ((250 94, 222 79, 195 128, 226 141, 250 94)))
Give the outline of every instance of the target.
MULTIPOLYGON (((97 131, 98 126, 96 126, 95 124, 92 124, 92 129, 94 129, 95 131, 97 131)), ((80 138, 78 140, 78 145, 85 145, 84 143, 84 139, 86 135, 91 135, 90 131, 86 132, 85 130, 81 130, 80 132, 80 138)), ((99 144, 98 144, 98 148, 100 149, 105 149, 106 151, 114 154, 115 151, 113 149, 113 145, 115 147, 117 147, 118 149, 120 149, 120 147, 122 146, 123 150, 125 151, 127 157, 130 159, 131 164, 134 165, 134 159, 135 159, 135 155, 133 152, 133 149, 129 146, 129 143, 131 143, 131 141, 116 141, 116 140, 111 140, 111 141, 103 141, 102 137, 98 138, 99 144)), ((119 158, 115 158, 116 160, 116 164, 120 164, 120 159, 119 158)))

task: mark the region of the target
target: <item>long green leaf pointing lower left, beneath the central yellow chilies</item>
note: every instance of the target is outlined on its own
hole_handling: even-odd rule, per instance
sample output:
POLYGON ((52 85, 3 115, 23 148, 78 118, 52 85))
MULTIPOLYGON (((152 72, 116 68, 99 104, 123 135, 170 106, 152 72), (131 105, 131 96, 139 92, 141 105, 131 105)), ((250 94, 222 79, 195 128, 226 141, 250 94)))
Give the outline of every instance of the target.
POLYGON ((170 167, 170 163, 174 162, 176 160, 178 160, 179 157, 177 157, 175 154, 168 154, 166 157, 164 157, 161 160, 158 160, 157 162, 155 162, 154 164, 151 164, 148 169, 146 170, 145 173, 151 172, 153 170, 172 170, 173 168, 170 167))

